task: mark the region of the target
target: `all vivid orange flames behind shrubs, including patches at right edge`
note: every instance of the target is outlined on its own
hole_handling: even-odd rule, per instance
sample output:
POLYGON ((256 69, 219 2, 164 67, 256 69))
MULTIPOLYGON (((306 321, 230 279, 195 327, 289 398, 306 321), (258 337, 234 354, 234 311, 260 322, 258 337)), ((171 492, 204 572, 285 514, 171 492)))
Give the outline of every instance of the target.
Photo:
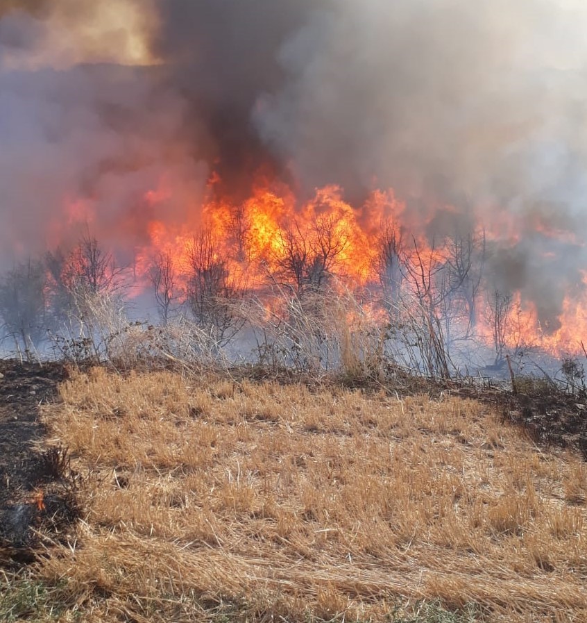
MULTIPOLYGON (((439 288, 445 287, 435 275, 440 274, 449 263, 454 263, 451 254, 454 254, 455 241, 450 236, 439 239, 425 235, 425 227, 416 226, 414 215, 408 213, 405 202, 395 198, 393 190, 376 190, 357 206, 346 201, 343 188, 329 185, 316 189, 313 197, 300 201, 291 188, 260 176, 253 184, 250 197, 236 202, 216 194, 221 186, 219 182, 219 176, 213 173, 207 187, 207 199, 199 208, 190 208, 197 211, 198 219, 194 219, 194 215, 187 210, 182 224, 172 224, 159 218, 148 222, 149 242, 137 251, 139 279, 148 273, 151 259, 161 253, 170 254, 178 274, 185 273, 194 235, 205 228, 219 242, 219 255, 228 265, 232 278, 246 278, 253 289, 261 288, 272 276, 277 279, 275 276, 279 274, 280 267, 287 263, 287 255, 293 252, 291 241, 297 239, 298 252, 309 253, 311 249, 320 248, 325 253, 332 253, 332 264, 328 270, 337 275, 344 288, 377 290, 382 277, 378 265, 382 229, 393 226, 402 237, 402 261, 411 265, 411 269, 402 269, 400 278, 404 285, 401 287, 407 288, 409 281, 415 280, 412 287, 415 284, 417 289, 429 288, 426 296, 431 305, 438 304, 440 309, 445 304, 434 303, 441 300, 439 288), (196 222, 197 225, 188 225, 196 222), (427 276, 430 283, 426 281, 427 276), (423 281, 416 283, 418 279, 423 281)), ((157 213, 158 206, 172 196, 172 188, 155 186, 146 193, 145 201, 157 213)), ((439 209, 458 217, 456 208, 452 206, 441 206, 439 209)), ((427 215, 421 216, 427 225, 436 217, 436 212, 431 209, 427 215)), ((511 247, 523 233, 520 222, 508 219, 504 213, 497 215, 493 228, 485 229, 482 224, 476 227, 473 234, 473 237, 477 236, 475 244, 482 244, 483 247, 485 242, 479 241, 485 238, 494 244, 511 247)), ((553 237, 558 234, 551 233, 553 237)), ((480 249, 481 246, 479 252, 480 249)), ((400 285, 394 287, 400 288, 400 285)), ((585 307, 579 304, 583 299, 572 292, 565 296, 556 328, 541 323, 533 301, 523 299, 520 292, 510 292, 502 310, 504 318, 500 322, 504 328, 501 336, 495 335, 495 326, 488 319, 491 316, 487 311, 487 307, 491 307, 488 292, 480 288, 475 297, 475 335, 488 344, 495 342, 497 359, 501 356, 500 349, 540 347, 553 354, 578 351, 580 340, 587 333, 585 307)), ((271 308, 269 301, 267 305, 271 308)), ((381 319, 381 308, 373 304, 373 299, 366 303, 366 309, 371 317, 381 319)), ((464 324, 465 317, 462 309, 455 312, 457 322, 464 324)))

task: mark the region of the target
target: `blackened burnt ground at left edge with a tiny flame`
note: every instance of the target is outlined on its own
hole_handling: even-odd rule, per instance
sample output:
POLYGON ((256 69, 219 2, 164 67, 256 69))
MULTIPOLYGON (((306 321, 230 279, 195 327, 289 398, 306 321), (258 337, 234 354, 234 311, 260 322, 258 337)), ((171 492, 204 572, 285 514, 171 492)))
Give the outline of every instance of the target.
POLYGON ((42 534, 76 517, 67 449, 40 449, 40 406, 56 398, 65 368, 0 360, 0 566, 26 561, 42 534))

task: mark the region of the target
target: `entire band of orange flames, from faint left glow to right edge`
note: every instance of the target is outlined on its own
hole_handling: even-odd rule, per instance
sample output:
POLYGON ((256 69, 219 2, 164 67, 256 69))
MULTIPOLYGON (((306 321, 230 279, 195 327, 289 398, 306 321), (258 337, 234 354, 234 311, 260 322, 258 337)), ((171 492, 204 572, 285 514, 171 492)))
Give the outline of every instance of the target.
MULTIPOLYGON (((180 191, 174 188, 170 178, 162 179, 146 192, 143 200, 150 218, 141 226, 148 242, 136 249, 135 254, 135 274, 143 288, 148 286, 153 258, 159 254, 171 258, 178 280, 182 281, 189 267, 194 236, 201 228, 209 230, 219 243, 219 252, 230 274, 237 279, 245 278, 250 288, 260 288, 268 274, 278 271, 287 253, 288 232, 305 237, 309 244, 318 244, 320 240, 316 242, 316 238, 321 228, 327 229, 330 243, 338 245, 332 270, 344 287, 352 291, 379 285, 377 262, 382 226, 386 223, 392 223, 404 236, 404 260, 419 263, 418 270, 434 274, 450 256, 450 240, 431 240, 425 230, 427 226, 431 231, 434 229, 434 219, 439 215, 459 218, 457 208, 441 204, 431 203, 427 208, 408 211, 405 202, 398 200, 392 189, 375 190, 360 205, 353 205, 337 185, 318 188, 313 197, 300 201, 287 185, 259 175, 250 197, 238 202, 221 195, 222 185, 219 175, 212 172, 207 183, 207 198, 202 203, 176 196, 180 191), (171 203, 183 205, 183 215, 175 210, 173 219, 167 218, 167 206, 171 203)), ((69 201, 67 215, 70 221, 91 222, 92 204, 69 201)), ((538 218, 536 223, 522 222, 521 217, 497 209, 492 215, 491 226, 475 225, 478 231, 484 232, 488 243, 513 247, 530 229, 545 239, 579 244, 571 234, 549 229, 545 219, 538 218)), ((468 217, 473 216, 468 214, 468 217)), ((587 276, 584 281, 587 285, 587 276)), ((479 308, 485 304, 484 296, 481 291, 477 294, 479 308)), ((270 301, 266 304, 271 308, 270 301)), ((381 317, 380 310, 372 302, 366 304, 366 308, 371 310, 368 313, 373 319, 381 317)), ((584 310, 587 310, 586 294, 567 292, 556 329, 553 329, 541 324, 531 301, 522 300, 520 292, 512 292, 507 310, 509 331, 504 336, 504 346, 508 349, 536 346, 552 354, 580 352, 581 339, 587 338, 584 310)), ((477 314, 475 334, 491 343, 491 323, 482 313, 477 314)))

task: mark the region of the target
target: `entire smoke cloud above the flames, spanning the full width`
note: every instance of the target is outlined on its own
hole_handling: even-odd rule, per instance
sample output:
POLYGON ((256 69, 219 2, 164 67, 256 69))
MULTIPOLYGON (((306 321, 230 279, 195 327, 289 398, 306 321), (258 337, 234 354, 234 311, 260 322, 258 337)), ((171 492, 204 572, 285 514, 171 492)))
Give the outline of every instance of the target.
MULTIPOLYGON (((507 239, 491 245, 496 287, 522 290, 551 326, 565 290, 579 287, 583 1, 94 4, 124 5, 125 24, 151 16, 138 26, 152 27, 160 65, 108 65, 117 46, 99 43, 120 36, 111 24, 37 69, 43 42, 55 48, 51 33, 62 24, 102 15, 108 26, 115 13, 84 15, 73 0, 29 2, 32 11, 24 1, 0 3, 0 210, 11 240, 46 237, 43 215, 60 209, 63 194, 101 197, 104 229, 136 233, 148 208, 137 197, 165 169, 184 197, 202 192, 211 167, 238 196, 263 166, 295 182, 301 197, 325 183, 350 199, 391 186, 412 214, 454 206, 456 215, 428 222, 427 233, 450 233, 456 220, 507 239), (61 21, 48 9, 57 5, 61 21), (84 65, 79 49, 102 65, 84 65)), ((137 42, 121 43, 133 64, 137 42)))

